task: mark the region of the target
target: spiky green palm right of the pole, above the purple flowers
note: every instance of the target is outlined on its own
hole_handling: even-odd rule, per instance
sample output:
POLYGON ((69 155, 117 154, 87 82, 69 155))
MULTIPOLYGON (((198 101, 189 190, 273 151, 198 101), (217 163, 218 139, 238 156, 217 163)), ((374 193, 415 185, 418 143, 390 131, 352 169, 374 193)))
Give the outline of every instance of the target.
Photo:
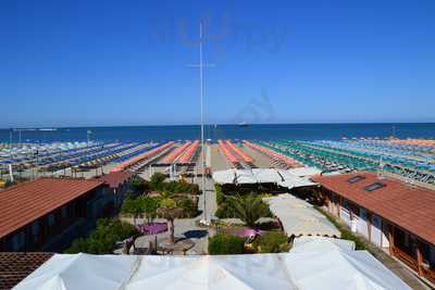
POLYGON ((234 215, 240 218, 248 227, 256 227, 260 217, 271 215, 268 204, 253 194, 231 197, 229 199, 234 215))

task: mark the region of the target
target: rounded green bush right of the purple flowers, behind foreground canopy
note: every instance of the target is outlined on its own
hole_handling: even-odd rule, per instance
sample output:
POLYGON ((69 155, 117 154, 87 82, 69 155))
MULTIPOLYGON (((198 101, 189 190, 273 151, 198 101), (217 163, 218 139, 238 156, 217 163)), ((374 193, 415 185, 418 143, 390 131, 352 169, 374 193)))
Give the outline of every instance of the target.
POLYGON ((261 253, 288 252, 290 245, 287 236, 282 231, 266 231, 253 242, 254 248, 261 253))

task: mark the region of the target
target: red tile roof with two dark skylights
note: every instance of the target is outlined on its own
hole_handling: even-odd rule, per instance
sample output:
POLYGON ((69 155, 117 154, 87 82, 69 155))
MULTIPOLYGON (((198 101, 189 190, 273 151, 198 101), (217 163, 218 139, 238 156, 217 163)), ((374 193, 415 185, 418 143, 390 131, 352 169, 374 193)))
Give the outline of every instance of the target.
POLYGON ((397 226, 435 244, 435 191, 407 185, 394 178, 380 179, 373 173, 352 173, 333 176, 316 176, 312 178, 324 188, 383 216, 397 226), (364 176, 355 184, 348 179, 364 176), (381 181, 385 187, 374 191, 364 188, 381 181))

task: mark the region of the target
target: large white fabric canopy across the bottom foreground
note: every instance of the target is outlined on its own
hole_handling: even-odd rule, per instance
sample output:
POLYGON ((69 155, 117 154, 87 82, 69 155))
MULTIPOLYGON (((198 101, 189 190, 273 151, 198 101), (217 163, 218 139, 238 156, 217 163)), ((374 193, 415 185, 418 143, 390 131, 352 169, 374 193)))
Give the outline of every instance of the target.
POLYGON ((57 254, 17 290, 408 290, 365 251, 254 255, 57 254))

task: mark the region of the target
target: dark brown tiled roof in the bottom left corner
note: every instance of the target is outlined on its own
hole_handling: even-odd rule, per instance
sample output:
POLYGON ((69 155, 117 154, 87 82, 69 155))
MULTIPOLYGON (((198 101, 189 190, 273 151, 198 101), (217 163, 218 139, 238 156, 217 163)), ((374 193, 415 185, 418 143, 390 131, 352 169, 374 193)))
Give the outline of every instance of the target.
POLYGON ((12 289, 52 255, 45 252, 0 253, 0 290, 12 289))

